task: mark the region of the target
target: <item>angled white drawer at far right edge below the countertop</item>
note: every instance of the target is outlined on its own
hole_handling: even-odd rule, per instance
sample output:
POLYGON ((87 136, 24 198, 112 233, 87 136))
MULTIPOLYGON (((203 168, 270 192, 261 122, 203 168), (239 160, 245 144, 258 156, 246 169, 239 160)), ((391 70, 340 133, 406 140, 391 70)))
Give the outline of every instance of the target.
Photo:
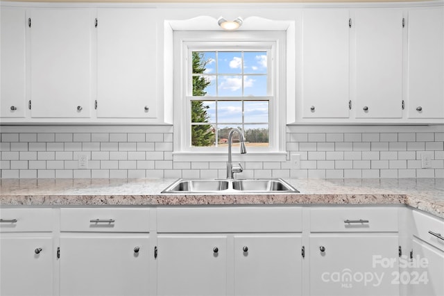
POLYGON ((413 236, 444 251, 444 220, 413 210, 413 223, 413 236))

